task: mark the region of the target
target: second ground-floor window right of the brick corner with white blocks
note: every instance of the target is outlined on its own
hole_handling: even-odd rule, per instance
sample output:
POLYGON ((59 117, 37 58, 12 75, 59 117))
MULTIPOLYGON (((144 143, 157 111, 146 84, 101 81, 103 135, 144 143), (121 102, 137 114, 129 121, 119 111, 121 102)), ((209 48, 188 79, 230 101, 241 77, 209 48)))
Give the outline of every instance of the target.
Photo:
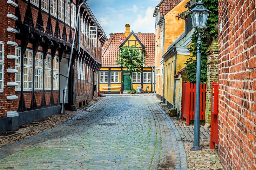
POLYGON ((25 55, 23 57, 23 89, 24 90, 32 90, 32 69, 33 69, 33 60, 32 60, 32 51, 26 50, 25 55))

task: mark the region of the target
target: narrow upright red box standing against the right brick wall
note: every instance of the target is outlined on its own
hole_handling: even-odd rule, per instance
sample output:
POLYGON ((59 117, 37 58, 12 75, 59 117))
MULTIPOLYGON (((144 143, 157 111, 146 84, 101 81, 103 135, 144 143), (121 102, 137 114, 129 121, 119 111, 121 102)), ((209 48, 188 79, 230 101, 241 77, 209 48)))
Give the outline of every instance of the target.
POLYGON ((211 140, 210 148, 215 149, 218 145, 218 83, 211 85, 211 140))

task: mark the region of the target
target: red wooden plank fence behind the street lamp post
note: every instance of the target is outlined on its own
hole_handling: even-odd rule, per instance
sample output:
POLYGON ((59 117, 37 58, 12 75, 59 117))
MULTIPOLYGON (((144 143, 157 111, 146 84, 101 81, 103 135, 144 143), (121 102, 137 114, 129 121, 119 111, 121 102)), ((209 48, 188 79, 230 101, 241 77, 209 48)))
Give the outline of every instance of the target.
MULTIPOLYGON (((182 108, 181 118, 185 118, 187 125, 190 120, 195 120, 195 100, 196 100, 196 84, 190 82, 182 84, 182 108)), ((200 85, 200 120, 205 119, 206 108, 206 84, 200 85)))

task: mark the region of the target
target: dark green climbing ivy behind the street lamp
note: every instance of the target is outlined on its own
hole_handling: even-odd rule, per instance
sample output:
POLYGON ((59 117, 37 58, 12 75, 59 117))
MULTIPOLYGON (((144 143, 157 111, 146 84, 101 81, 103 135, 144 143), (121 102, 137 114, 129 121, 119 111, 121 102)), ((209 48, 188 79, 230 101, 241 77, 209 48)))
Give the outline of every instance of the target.
MULTIPOLYGON (((207 30, 202 37, 201 44, 201 83, 206 83, 207 78, 207 55, 206 50, 210 46, 213 39, 217 37, 214 28, 218 24, 218 0, 204 0, 205 7, 210 10, 207 21, 207 30)), ((191 83, 196 82, 196 59, 197 59, 197 35, 194 32, 192 36, 191 46, 188 48, 192 52, 192 56, 186 61, 188 79, 191 83)))

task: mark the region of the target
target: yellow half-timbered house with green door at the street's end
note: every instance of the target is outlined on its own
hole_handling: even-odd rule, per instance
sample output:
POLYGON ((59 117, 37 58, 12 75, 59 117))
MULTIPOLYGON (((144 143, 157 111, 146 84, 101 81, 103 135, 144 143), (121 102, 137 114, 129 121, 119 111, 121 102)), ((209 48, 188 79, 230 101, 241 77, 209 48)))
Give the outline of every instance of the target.
POLYGON ((143 49, 146 56, 146 65, 143 73, 133 73, 133 88, 142 86, 144 90, 154 91, 154 61, 155 61, 155 34, 130 32, 130 25, 126 24, 124 33, 110 34, 110 38, 103 45, 102 67, 100 70, 100 91, 104 93, 121 93, 130 90, 130 73, 116 64, 117 54, 122 46, 135 46, 143 49), (110 88, 111 87, 111 88, 110 88), (113 90, 113 91, 110 91, 113 90))

